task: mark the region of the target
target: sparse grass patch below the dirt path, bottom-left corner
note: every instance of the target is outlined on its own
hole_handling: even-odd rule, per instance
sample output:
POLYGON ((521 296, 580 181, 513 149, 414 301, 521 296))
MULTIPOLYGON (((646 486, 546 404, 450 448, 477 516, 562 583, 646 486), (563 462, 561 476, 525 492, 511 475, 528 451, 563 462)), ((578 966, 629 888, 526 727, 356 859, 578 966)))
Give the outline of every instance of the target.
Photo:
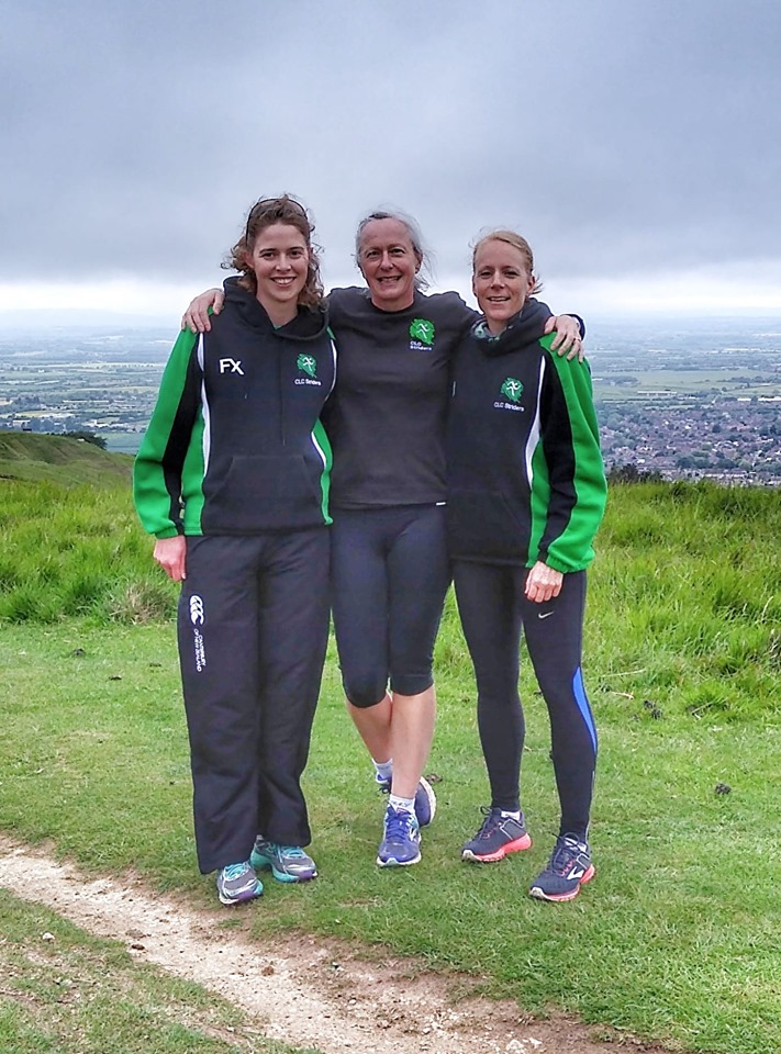
POLYGON ((2 890, 0 931, 3 1054, 292 1054, 198 985, 2 890))

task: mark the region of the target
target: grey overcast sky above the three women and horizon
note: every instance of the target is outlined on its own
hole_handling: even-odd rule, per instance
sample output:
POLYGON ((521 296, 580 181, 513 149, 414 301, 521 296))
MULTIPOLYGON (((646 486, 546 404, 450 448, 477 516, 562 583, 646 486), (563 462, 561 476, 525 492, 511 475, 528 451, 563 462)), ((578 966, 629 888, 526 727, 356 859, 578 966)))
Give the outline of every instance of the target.
POLYGON ((249 205, 330 284, 414 214, 437 288, 510 225, 555 310, 781 315, 778 0, 0 0, 0 311, 176 321, 249 205))

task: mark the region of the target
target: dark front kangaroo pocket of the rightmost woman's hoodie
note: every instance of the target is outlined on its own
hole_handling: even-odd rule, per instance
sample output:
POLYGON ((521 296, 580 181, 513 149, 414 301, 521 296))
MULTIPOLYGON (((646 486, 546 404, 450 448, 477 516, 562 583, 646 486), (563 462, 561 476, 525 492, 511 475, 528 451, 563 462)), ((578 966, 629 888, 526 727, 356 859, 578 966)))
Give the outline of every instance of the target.
POLYGON ((454 558, 515 563, 528 553, 528 528, 499 491, 451 491, 447 539, 454 558))

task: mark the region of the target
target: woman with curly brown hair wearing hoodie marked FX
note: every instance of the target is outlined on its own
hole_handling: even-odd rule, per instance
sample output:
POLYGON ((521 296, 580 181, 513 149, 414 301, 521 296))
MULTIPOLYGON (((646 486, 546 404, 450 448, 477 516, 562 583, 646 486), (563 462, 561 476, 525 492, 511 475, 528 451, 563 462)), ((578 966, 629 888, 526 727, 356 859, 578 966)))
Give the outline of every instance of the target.
POLYGON ((306 210, 258 201, 209 333, 180 335, 135 464, 135 501, 179 601, 201 871, 223 904, 258 868, 314 878, 300 778, 328 635, 336 377, 306 210))

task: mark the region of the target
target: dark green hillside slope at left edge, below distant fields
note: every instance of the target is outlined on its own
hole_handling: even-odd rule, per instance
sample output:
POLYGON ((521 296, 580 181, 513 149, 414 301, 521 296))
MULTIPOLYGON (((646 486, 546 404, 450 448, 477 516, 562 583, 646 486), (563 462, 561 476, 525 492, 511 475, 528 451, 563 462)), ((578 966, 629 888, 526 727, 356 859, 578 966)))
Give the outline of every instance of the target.
POLYGON ((129 455, 108 453, 83 439, 0 431, 0 482, 113 485, 130 480, 132 466, 129 455))

